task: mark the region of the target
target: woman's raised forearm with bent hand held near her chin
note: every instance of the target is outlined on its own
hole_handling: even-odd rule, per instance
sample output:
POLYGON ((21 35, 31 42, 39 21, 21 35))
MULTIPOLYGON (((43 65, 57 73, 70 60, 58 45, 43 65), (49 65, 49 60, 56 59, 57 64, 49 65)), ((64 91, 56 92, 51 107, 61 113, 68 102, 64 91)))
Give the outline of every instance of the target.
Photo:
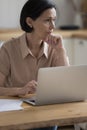
POLYGON ((55 49, 53 66, 69 66, 69 59, 60 35, 49 35, 46 42, 55 49))

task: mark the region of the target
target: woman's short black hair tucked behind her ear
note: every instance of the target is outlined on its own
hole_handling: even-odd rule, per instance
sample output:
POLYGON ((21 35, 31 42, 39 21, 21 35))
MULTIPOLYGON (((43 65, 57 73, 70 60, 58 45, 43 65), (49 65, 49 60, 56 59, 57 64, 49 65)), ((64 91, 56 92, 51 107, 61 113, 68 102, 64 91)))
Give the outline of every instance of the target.
POLYGON ((30 17, 33 20, 36 20, 46 9, 55 8, 56 6, 52 0, 28 0, 21 11, 20 15, 20 25, 22 30, 25 32, 32 32, 31 28, 26 23, 26 18, 30 17))

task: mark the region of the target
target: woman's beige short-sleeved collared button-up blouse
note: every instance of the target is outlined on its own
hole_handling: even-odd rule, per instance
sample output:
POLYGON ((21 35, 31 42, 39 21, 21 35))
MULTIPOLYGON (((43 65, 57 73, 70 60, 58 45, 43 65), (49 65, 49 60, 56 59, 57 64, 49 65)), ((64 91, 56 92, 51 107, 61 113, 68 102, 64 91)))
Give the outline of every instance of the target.
POLYGON ((68 64, 64 48, 57 52, 46 42, 36 58, 27 46, 26 33, 6 42, 0 49, 0 72, 6 78, 5 87, 22 87, 37 80, 39 68, 68 64))

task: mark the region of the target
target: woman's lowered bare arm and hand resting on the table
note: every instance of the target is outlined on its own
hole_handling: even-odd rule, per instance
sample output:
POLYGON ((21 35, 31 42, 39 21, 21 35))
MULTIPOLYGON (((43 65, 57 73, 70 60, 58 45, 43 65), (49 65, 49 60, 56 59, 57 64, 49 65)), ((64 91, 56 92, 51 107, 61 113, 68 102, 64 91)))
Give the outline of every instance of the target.
POLYGON ((37 82, 32 80, 28 82, 24 87, 18 88, 6 88, 4 87, 5 76, 0 72, 0 96, 18 96, 35 93, 37 82))

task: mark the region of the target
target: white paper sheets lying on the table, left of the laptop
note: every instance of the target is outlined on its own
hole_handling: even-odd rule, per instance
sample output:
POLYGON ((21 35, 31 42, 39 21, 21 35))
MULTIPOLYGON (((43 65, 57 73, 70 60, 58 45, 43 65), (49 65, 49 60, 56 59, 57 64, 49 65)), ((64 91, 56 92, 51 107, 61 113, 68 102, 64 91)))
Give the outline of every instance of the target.
POLYGON ((0 99, 0 112, 21 110, 23 109, 22 103, 23 101, 19 99, 0 99))

